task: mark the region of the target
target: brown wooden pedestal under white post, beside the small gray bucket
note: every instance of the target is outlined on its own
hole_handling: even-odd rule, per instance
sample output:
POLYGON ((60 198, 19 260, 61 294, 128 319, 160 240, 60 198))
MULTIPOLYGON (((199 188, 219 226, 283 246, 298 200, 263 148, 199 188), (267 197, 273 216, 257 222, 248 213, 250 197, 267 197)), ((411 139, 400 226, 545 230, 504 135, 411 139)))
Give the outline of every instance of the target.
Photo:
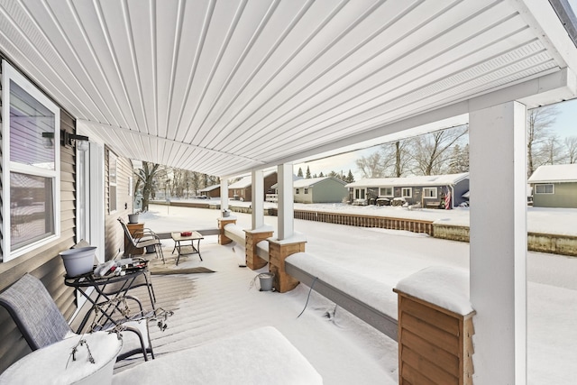
POLYGON ((305 252, 306 241, 273 240, 269 239, 269 270, 274 273, 274 288, 280 293, 295 289, 298 280, 295 280, 285 270, 285 260, 296 252, 305 252))

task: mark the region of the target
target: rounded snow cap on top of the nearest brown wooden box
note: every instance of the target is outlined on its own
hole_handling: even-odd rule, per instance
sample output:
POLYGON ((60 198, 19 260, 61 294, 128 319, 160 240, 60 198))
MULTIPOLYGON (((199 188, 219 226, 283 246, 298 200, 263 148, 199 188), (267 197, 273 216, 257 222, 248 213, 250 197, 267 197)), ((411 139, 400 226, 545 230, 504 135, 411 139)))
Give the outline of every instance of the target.
POLYGON ((462 316, 473 311, 466 270, 428 267, 399 280, 396 289, 462 316))

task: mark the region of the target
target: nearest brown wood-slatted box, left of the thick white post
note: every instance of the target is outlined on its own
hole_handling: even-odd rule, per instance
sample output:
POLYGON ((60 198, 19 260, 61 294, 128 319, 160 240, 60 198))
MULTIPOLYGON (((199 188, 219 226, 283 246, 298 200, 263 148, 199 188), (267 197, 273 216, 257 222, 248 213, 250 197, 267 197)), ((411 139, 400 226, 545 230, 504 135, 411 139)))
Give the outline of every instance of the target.
POLYGON ((398 294, 398 383, 472 384, 472 316, 398 294))

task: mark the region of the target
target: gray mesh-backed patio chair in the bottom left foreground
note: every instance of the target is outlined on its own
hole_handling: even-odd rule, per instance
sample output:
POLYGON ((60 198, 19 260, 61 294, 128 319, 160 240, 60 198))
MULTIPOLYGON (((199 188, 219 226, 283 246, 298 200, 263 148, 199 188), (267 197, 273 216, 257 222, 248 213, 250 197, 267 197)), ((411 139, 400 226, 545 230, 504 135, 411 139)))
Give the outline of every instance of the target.
MULTIPOLYGON (((0 305, 12 316, 32 351, 76 335, 41 280, 28 273, 0 293, 0 305)), ((126 331, 132 333, 123 334, 123 351, 118 355, 118 360, 136 353, 142 353, 145 361, 148 361, 147 353, 154 358, 148 322, 146 319, 138 324, 136 322, 122 324, 126 331)))

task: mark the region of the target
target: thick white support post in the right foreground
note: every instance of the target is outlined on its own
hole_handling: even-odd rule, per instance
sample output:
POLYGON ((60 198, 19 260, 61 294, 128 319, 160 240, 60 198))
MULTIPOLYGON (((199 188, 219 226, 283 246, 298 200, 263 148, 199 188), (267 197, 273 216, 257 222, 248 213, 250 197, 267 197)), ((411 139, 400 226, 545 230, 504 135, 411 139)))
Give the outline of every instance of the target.
POLYGON ((470 113, 475 384, 527 383, 525 105, 470 113))

